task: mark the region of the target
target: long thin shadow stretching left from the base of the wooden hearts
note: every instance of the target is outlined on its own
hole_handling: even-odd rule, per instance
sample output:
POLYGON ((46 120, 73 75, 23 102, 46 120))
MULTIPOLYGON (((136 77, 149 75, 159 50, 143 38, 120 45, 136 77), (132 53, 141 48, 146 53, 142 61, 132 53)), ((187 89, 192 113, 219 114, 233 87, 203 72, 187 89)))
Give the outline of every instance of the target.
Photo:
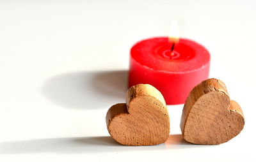
POLYGON ((170 135, 164 144, 140 147, 120 145, 115 142, 111 136, 95 136, 2 142, 0 143, 0 154, 31 154, 47 152, 55 152, 58 154, 86 154, 99 152, 188 149, 194 147, 207 146, 189 144, 183 140, 182 135, 170 135))

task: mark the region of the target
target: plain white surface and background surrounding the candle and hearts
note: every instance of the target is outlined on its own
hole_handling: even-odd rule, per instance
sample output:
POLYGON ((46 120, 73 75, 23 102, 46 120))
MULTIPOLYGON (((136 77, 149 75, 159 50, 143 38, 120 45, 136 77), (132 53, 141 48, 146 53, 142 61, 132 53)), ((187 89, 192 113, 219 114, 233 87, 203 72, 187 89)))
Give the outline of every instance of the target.
POLYGON ((0 161, 256 161, 255 1, 0 1, 0 161), (166 144, 125 147, 106 129, 124 102, 129 49, 180 35, 211 52, 246 124, 221 145, 180 136, 183 105, 168 106, 166 144))

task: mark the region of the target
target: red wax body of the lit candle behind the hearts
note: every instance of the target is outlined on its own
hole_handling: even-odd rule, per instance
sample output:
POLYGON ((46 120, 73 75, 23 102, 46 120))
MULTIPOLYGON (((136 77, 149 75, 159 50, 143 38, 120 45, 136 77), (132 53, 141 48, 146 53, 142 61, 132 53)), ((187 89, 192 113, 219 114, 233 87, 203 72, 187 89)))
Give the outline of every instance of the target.
POLYGON ((209 77, 210 54, 195 41, 180 38, 171 52, 168 37, 143 40, 131 48, 129 87, 150 84, 168 105, 182 104, 196 84, 209 77))

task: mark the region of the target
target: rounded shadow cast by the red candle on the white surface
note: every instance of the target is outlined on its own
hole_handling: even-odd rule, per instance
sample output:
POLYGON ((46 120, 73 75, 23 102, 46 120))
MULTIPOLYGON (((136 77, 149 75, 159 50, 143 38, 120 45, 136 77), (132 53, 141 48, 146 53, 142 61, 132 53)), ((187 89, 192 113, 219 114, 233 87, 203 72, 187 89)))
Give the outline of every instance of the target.
POLYGON ((56 105, 90 110, 124 102, 126 91, 124 70, 64 73, 49 78, 42 87, 44 96, 56 105))

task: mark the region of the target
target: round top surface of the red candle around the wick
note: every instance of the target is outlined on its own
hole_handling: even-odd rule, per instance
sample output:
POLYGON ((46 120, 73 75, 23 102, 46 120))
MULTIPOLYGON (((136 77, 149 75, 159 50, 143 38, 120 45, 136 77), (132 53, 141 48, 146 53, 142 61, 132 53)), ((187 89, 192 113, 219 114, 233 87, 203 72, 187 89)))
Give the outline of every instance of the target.
POLYGON ((172 45, 168 37, 142 40, 131 48, 131 59, 146 68, 168 73, 196 71, 209 64, 209 52, 195 41, 180 38, 173 51, 172 45))

